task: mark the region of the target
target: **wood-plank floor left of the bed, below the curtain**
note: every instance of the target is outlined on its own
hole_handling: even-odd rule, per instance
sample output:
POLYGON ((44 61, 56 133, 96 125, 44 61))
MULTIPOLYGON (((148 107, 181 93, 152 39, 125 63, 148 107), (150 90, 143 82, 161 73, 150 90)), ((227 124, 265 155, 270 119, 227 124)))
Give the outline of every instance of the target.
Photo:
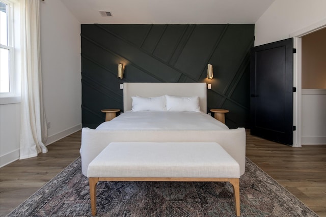
POLYGON ((0 216, 6 216, 78 158, 80 138, 78 131, 48 145, 47 153, 0 168, 0 216))

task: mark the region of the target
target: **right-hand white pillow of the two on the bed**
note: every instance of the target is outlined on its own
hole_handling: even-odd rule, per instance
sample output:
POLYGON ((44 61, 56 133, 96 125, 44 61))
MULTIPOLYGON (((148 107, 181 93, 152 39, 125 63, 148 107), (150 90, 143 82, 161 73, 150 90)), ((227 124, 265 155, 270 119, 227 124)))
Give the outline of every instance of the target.
POLYGON ((168 111, 200 111, 199 97, 172 97, 167 98, 168 111))

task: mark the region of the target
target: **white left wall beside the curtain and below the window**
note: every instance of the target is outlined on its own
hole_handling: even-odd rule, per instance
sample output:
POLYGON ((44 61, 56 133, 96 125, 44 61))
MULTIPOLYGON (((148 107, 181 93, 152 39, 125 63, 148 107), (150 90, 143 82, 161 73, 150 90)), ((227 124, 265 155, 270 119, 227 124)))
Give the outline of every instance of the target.
MULTIPOLYGON (((50 144, 82 128, 80 23, 61 1, 40 1, 43 98, 50 144)), ((20 103, 0 105, 0 167, 19 158, 20 103)))

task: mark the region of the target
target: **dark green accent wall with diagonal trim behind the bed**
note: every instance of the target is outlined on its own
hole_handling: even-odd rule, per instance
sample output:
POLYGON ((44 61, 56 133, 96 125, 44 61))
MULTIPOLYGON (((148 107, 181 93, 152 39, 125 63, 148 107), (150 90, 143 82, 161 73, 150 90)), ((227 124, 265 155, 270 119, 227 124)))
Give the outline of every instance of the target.
POLYGON ((83 24, 81 37, 83 127, 103 122, 101 109, 123 109, 123 82, 211 83, 207 111, 228 109, 230 128, 250 126, 254 24, 83 24), (118 63, 125 67, 123 79, 117 78, 118 63))

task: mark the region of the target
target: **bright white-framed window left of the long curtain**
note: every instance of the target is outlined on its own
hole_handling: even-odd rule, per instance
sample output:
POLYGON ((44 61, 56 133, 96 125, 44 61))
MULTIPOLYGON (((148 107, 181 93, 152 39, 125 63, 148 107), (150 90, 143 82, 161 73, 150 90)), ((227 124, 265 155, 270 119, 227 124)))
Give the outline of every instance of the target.
MULTIPOLYGON (((0 97, 19 96, 20 45, 19 5, 14 0, 0 0, 0 97), (15 22, 14 22, 15 20, 15 22), (15 24, 14 24, 15 23, 15 24), (14 35, 14 33, 17 33, 14 35), (15 70, 16 69, 16 70, 15 70), (18 89, 17 89, 18 88, 18 89)), ((3 101, 1 102, 3 104, 3 101)))

